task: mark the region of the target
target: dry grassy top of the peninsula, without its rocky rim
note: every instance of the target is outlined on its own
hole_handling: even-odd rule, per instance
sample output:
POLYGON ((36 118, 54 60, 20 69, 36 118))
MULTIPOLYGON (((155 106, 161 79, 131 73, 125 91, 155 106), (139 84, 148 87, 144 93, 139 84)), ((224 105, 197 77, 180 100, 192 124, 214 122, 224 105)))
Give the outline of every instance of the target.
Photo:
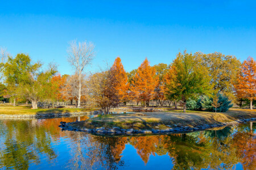
POLYGON ((99 117, 89 118, 86 121, 73 122, 69 124, 73 128, 96 129, 100 127, 122 129, 166 129, 178 126, 197 126, 204 124, 217 124, 220 122, 232 122, 242 118, 255 118, 256 111, 249 109, 230 109, 225 113, 187 111, 167 112, 141 112, 126 114, 108 114, 99 117))

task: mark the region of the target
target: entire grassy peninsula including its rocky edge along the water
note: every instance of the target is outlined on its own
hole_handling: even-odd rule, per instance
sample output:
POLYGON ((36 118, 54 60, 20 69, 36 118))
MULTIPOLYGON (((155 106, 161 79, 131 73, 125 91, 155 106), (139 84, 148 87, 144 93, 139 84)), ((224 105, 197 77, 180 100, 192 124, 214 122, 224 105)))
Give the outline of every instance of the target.
POLYGON ((226 113, 152 112, 106 115, 79 122, 60 122, 62 130, 84 131, 96 135, 189 133, 256 121, 256 112, 226 113))

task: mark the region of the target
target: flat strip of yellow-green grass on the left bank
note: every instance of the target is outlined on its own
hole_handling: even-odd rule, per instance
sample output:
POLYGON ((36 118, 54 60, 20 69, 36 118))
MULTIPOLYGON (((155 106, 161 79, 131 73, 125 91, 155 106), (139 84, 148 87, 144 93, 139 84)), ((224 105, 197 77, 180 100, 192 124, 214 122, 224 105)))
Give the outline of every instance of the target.
POLYGON ((31 109, 26 106, 0 105, 0 114, 39 114, 39 113, 75 113, 86 112, 89 109, 79 108, 50 108, 50 109, 31 109))

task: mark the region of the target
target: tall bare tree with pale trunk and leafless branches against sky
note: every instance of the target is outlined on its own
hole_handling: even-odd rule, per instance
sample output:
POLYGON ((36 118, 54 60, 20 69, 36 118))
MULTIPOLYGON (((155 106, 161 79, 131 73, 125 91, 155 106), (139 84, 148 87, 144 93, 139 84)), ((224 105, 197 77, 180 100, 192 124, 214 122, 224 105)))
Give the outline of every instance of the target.
POLYGON ((68 48, 68 62, 75 68, 75 74, 79 82, 77 97, 77 108, 80 108, 81 91, 82 91, 82 75, 86 69, 86 66, 92 62, 94 57, 94 45, 92 42, 79 42, 76 40, 69 43, 68 48))

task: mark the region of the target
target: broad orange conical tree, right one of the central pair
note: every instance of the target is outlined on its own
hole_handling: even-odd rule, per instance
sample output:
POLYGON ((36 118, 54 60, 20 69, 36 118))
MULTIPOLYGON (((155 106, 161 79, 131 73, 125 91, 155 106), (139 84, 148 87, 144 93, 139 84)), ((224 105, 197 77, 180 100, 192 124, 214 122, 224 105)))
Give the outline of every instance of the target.
POLYGON ((144 107, 154 99, 155 87, 158 84, 158 77, 155 76, 155 68, 149 65, 147 58, 139 66, 131 84, 133 98, 141 101, 144 107))

